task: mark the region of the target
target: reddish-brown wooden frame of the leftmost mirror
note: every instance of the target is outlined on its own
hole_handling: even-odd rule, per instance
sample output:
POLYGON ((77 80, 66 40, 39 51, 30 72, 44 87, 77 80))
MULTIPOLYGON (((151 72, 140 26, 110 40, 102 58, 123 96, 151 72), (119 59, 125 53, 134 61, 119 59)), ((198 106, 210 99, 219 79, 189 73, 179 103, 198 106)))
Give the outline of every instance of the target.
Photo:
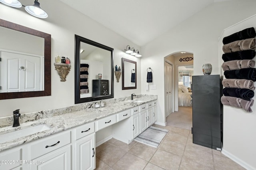
MULTIPOLYGON (((0 99, 16 99, 51 95, 51 35, 0 19, 0 26, 44 38, 44 91, 0 93, 0 99)), ((18 38, 18 37, 17 37, 18 38)))

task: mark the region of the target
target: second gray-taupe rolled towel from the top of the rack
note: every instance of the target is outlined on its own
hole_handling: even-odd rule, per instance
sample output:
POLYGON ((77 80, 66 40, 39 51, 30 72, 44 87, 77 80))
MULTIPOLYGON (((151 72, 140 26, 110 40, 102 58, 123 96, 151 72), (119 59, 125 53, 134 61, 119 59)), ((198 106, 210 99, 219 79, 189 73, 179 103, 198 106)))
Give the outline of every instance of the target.
POLYGON ((254 66, 255 66, 255 61, 251 59, 240 59, 240 60, 226 61, 222 63, 221 67, 223 71, 226 71, 226 70, 253 68, 254 66))

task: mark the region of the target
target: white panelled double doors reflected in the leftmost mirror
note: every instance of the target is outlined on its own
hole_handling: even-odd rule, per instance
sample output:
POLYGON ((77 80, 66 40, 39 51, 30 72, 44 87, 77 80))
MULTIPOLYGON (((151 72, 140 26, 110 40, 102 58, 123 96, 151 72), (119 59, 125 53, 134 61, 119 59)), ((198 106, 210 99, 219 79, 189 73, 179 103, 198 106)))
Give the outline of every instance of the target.
POLYGON ((1 92, 39 91, 41 58, 1 51, 1 92))

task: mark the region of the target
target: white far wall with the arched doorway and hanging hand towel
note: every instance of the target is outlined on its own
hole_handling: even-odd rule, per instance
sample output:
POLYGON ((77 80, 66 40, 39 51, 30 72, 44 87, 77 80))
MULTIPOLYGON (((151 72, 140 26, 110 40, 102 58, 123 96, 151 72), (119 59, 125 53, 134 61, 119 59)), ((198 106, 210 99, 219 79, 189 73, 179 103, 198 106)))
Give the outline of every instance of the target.
POLYGON ((194 56, 194 75, 203 75, 202 65, 212 64, 212 75, 219 74, 218 37, 222 30, 244 20, 255 12, 256 1, 234 0, 217 2, 204 8, 152 42, 142 46, 142 94, 158 95, 158 123, 164 118, 164 57, 177 51, 194 56), (146 91, 146 69, 154 70, 153 83, 157 89, 146 91))

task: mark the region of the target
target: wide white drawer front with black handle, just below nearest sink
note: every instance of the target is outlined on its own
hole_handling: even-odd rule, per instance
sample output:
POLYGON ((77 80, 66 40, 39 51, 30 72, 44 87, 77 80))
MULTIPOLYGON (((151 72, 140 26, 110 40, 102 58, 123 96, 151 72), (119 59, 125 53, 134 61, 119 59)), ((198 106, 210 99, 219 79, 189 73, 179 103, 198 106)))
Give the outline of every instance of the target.
POLYGON ((30 145, 31 159, 56 150, 70 143, 70 130, 35 141, 30 145))

